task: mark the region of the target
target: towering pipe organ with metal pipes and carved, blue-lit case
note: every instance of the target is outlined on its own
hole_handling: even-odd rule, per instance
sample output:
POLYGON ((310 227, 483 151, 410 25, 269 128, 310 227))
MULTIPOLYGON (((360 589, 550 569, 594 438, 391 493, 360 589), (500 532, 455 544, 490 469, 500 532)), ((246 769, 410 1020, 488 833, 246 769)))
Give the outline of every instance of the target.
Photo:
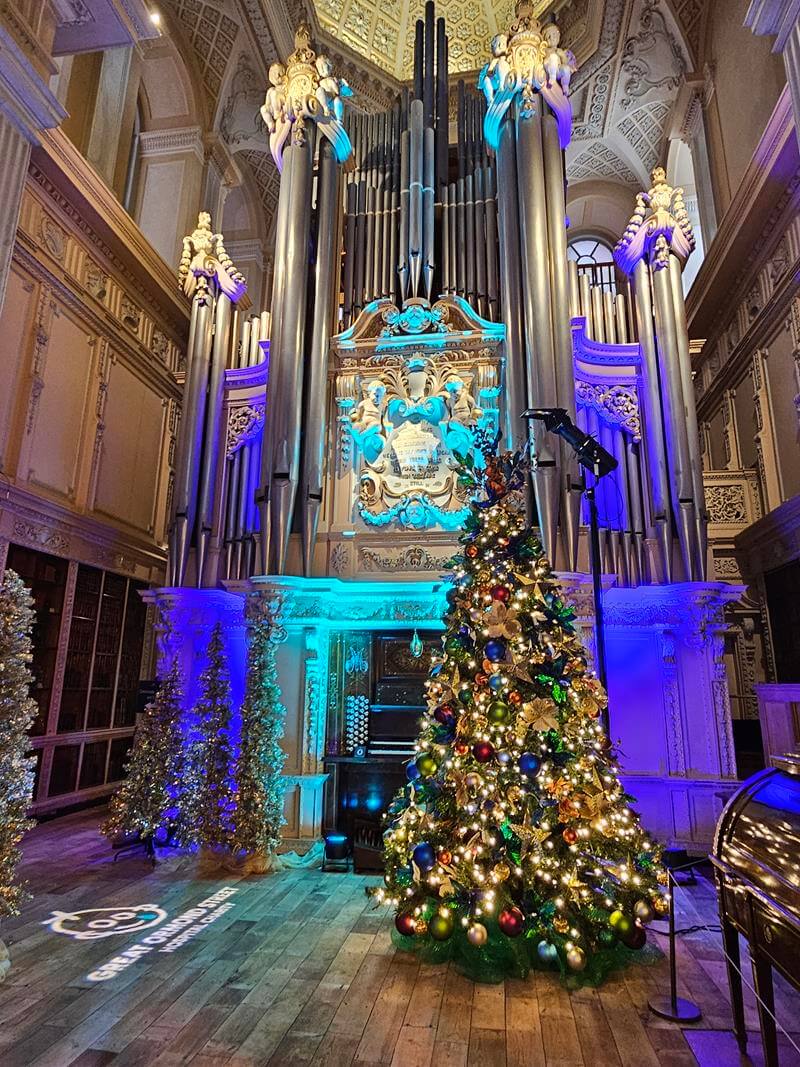
POLYGON ((220 598, 242 620, 246 596, 281 603, 291 775, 318 812, 330 774, 334 811, 336 760, 361 743, 331 723, 349 698, 371 714, 348 664, 366 664, 363 681, 367 635, 438 630, 466 506, 455 458, 478 435, 529 444, 531 520, 591 627, 592 476, 519 418, 563 408, 618 460, 595 492, 612 730, 636 752, 631 787, 654 831, 687 841, 672 819, 691 808, 707 842, 735 775, 719 634, 737 592, 705 576, 683 194, 656 169, 614 250, 615 284, 592 285, 567 259, 576 61, 557 26, 521 0, 477 85, 453 84, 447 57, 429 2, 414 77, 386 111, 361 107, 305 26, 270 68, 272 318, 246 318, 241 276, 202 217, 181 262, 192 319, 170 537, 170 582, 189 588, 161 599, 192 618, 207 603, 209 621, 220 598), (198 600, 193 586, 217 591, 198 600), (642 739, 659 701, 662 728, 642 739))

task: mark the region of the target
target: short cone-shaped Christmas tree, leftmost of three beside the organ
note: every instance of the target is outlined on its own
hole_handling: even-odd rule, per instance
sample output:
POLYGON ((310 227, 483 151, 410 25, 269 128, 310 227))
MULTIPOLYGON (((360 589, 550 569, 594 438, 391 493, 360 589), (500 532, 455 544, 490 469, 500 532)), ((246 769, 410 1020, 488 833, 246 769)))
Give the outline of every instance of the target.
POLYGON ((109 817, 100 827, 111 841, 134 834, 150 843, 162 835, 177 834, 182 840, 187 832, 180 810, 181 697, 176 657, 137 727, 125 781, 112 797, 109 817))

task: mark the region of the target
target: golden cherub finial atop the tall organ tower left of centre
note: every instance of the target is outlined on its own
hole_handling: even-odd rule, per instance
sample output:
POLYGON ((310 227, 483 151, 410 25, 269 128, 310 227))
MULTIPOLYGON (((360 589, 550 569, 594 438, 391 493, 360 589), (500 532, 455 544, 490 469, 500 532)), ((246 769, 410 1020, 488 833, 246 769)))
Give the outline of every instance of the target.
POLYGON ((311 31, 301 22, 294 34, 294 51, 286 64, 273 63, 269 70, 270 87, 261 106, 261 117, 270 139, 270 152, 278 171, 283 170, 284 149, 291 136, 293 144, 305 143, 308 120, 331 142, 336 158, 347 162, 353 147, 342 125, 345 98, 353 91, 343 78, 336 78, 327 55, 318 55, 311 47, 311 31))

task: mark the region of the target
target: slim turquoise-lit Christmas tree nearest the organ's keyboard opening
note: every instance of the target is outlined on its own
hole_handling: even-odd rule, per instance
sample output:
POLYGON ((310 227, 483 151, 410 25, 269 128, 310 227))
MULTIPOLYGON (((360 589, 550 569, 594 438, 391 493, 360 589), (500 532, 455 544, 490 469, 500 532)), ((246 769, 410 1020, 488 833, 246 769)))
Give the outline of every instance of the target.
POLYGON ((263 870, 281 841, 284 825, 286 757, 281 748, 286 708, 277 684, 275 646, 285 636, 277 621, 279 604, 261 607, 252 620, 247 644, 247 676, 237 763, 237 811, 234 851, 263 870))

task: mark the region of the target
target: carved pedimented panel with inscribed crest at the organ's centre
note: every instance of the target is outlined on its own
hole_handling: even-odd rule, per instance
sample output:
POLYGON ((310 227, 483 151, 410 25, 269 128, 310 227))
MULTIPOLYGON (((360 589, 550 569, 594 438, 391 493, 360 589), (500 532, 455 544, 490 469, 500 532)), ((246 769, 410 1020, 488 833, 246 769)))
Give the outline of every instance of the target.
POLYGON ((373 301, 332 339, 329 574, 441 571, 468 507, 457 456, 501 424, 502 338, 444 297, 373 301))

